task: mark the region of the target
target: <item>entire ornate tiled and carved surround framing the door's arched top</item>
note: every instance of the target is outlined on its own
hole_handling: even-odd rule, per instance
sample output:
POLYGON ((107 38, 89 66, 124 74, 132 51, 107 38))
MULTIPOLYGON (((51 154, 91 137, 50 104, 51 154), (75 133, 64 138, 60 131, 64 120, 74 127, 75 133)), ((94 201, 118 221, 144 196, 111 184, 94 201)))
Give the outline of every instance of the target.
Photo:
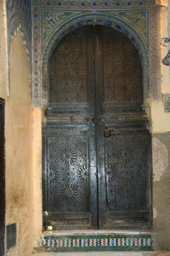
POLYGON ((38 107, 45 104, 46 99, 48 98, 48 93, 44 90, 43 84, 48 80, 48 76, 46 74, 46 72, 48 72, 48 63, 46 61, 50 60, 49 54, 52 52, 50 45, 53 44, 53 47, 55 47, 62 36, 74 28, 94 23, 112 26, 114 28, 116 28, 115 26, 117 25, 116 29, 119 29, 122 33, 125 33, 130 40, 133 40, 134 45, 136 44, 136 48, 139 51, 141 62, 145 62, 143 64, 143 66, 145 66, 144 73, 148 73, 144 74, 144 83, 146 84, 145 88, 148 86, 146 92, 144 92, 144 97, 146 99, 152 95, 152 97, 158 99, 159 70, 157 68, 159 68, 159 53, 156 52, 153 54, 154 61, 152 60, 151 70, 153 74, 152 90, 150 89, 150 58, 148 55, 148 52, 150 52, 149 29, 151 28, 151 30, 156 33, 156 35, 154 35, 152 32, 153 36, 151 39, 153 40, 155 36, 157 37, 157 29, 159 26, 159 22, 157 22, 158 11, 155 15, 154 3, 155 1, 153 0, 32 0, 32 100, 34 102, 34 106, 38 107), (150 8, 148 7, 153 10, 151 19, 150 8), (91 16, 89 12, 92 14, 91 16), (95 15, 96 17, 94 17, 95 15), (104 19, 104 15, 106 16, 106 19, 104 19), (109 18, 109 16, 112 18, 109 18), (115 25, 110 24, 109 19, 114 19, 114 17, 117 20, 122 20, 123 24, 120 24, 119 21, 116 21, 115 25), (132 31, 132 33, 130 31, 132 31), (145 49, 145 54, 144 50, 141 49, 141 45, 143 45, 143 49, 145 49), (145 58, 143 54, 145 55, 145 58))

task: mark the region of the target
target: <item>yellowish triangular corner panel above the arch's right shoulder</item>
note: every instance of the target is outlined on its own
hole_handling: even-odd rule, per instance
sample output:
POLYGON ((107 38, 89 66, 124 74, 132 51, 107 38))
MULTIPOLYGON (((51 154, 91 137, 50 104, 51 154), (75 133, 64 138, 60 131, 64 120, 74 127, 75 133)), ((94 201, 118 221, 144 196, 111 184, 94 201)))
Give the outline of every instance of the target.
POLYGON ((136 26, 143 35, 147 36, 147 26, 146 26, 146 12, 120 12, 118 13, 125 19, 130 20, 134 26, 136 26))

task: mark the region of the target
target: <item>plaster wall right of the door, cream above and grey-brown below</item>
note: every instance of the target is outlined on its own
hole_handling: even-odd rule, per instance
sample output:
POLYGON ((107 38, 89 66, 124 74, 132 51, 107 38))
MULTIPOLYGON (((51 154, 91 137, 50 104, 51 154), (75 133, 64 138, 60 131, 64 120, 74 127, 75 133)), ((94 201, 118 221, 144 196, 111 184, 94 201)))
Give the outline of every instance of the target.
MULTIPOLYGON (((160 1, 160 40, 168 37, 167 1, 160 1)), ((160 46, 161 59, 167 47, 160 46)), ((152 56, 151 56, 152 58, 152 56)), ((162 63, 161 97, 152 101, 153 241, 155 250, 170 250, 170 113, 164 111, 164 93, 170 93, 169 68, 162 63)))

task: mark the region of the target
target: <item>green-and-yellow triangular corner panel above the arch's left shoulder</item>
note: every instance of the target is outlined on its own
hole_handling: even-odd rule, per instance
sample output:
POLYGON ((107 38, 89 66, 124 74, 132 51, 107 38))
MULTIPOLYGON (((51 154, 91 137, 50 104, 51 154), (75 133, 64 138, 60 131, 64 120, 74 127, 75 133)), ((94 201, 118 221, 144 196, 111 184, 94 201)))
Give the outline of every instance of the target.
POLYGON ((53 29, 56 29, 57 26, 59 26, 62 20, 67 19, 67 17, 76 13, 80 12, 43 12, 43 39, 46 39, 50 33, 52 33, 53 29))

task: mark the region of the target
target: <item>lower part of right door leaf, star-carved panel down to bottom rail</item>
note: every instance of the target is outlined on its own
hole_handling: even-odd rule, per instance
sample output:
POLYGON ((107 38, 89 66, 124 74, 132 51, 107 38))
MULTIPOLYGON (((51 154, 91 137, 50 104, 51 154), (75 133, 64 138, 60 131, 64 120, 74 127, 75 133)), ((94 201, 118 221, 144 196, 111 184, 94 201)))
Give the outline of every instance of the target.
POLYGON ((114 130, 114 133, 105 137, 106 225, 149 228, 148 132, 114 130))

